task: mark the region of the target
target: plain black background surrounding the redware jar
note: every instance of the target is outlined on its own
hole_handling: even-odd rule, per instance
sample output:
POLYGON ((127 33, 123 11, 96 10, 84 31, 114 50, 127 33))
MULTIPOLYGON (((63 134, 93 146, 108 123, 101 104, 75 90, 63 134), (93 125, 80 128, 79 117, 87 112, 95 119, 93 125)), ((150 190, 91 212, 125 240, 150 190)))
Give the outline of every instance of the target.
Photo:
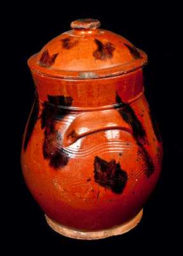
POLYGON ((10 104, 6 104, 11 124, 11 152, 8 153, 11 157, 8 156, 7 163, 8 166, 12 164, 12 168, 8 167, 11 170, 8 184, 11 185, 6 193, 10 208, 6 210, 8 248, 27 252, 23 249, 26 246, 26 250, 37 252, 40 248, 41 252, 47 252, 51 247, 60 253, 63 248, 85 248, 85 253, 91 248, 112 249, 113 253, 133 249, 145 254, 167 249, 175 253, 178 250, 182 204, 178 183, 181 183, 180 173, 183 171, 180 164, 183 152, 180 125, 182 81, 181 71, 178 71, 182 53, 179 8, 175 1, 162 3, 162 6, 154 1, 136 4, 122 1, 85 1, 82 4, 50 1, 40 4, 39 8, 38 3, 33 2, 11 3, 11 10, 7 11, 10 22, 6 25, 11 58, 8 63, 11 72, 9 70, 6 79, 11 92, 8 93, 10 104), (147 53, 149 65, 144 69, 145 95, 156 116, 164 145, 161 178, 144 207, 138 227, 128 234, 98 241, 70 239, 48 227, 43 212, 26 188, 20 168, 22 135, 34 99, 34 84, 27 59, 52 38, 69 30, 71 21, 85 17, 99 19, 101 28, 126 37, 147 53))

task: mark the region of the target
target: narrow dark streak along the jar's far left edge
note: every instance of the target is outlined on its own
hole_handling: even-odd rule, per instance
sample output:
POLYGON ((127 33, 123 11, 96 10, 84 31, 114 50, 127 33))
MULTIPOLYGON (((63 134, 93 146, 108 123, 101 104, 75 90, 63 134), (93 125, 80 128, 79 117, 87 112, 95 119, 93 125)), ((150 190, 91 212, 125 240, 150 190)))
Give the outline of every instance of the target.
POLYGON ((39 115, 39 103, 38 103, 38 99, 36 98, 34 101, 33 109, 31 111, 31 115, 29 117, 29 123, 27 124, 26 137, 24 140, 24 151, 26 151, 27 145, 29 143, 29 140, 34 130, 34 125, 38 120, 38 115, 39 115))

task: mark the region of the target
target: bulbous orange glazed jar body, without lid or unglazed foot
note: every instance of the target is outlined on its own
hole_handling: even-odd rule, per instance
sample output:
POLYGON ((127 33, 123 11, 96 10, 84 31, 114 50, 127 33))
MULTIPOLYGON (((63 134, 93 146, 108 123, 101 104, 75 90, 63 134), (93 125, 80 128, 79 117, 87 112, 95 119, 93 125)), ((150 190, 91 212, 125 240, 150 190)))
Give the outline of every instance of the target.
POLYGON ((156 186, 163 156, 142 70, 91 81, 33 77, 38 97, 21 161, 41 209, 78 230, 133 218, 156 186))

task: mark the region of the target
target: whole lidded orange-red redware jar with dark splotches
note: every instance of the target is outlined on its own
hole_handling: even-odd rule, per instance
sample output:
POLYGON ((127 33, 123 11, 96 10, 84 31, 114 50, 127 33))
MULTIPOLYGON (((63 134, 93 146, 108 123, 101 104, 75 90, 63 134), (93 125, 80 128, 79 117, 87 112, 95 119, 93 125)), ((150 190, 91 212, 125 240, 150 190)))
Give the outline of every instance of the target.
POLYGON ((36 99, 24 178, 50 227, 77 239, 135 227, 163 156, 143 94, 147 56, 99 25, 73 21, 28 61, 36 99))

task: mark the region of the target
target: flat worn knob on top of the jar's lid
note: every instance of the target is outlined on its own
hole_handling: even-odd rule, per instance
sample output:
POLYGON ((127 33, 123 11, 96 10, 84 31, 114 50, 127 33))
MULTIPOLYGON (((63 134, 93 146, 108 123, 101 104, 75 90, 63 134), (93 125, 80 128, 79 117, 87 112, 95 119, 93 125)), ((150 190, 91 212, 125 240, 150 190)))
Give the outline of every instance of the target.
POLYGON ((96 29, 99 26, 99 20, 95 19, 78 19, 71 22, 72 29, 96 29))

